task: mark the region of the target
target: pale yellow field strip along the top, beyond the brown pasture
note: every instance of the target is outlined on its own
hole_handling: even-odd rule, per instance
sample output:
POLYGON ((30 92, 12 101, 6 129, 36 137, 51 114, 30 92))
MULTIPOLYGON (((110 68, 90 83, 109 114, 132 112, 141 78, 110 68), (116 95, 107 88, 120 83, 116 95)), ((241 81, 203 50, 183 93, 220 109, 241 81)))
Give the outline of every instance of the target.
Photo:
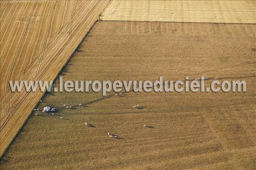
POLYGON ((115 0, 102 20, 256 23, 255 0, 115 0))

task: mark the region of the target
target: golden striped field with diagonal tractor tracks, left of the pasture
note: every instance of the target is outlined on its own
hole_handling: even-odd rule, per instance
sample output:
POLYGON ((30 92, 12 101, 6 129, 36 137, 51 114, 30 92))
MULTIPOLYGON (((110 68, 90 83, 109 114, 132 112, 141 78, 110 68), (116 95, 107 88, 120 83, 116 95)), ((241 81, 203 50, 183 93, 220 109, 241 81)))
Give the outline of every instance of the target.
POLYGON ((0 155, 44 94, 15 80, 53 80, 108 1, 0 1, 0 155))

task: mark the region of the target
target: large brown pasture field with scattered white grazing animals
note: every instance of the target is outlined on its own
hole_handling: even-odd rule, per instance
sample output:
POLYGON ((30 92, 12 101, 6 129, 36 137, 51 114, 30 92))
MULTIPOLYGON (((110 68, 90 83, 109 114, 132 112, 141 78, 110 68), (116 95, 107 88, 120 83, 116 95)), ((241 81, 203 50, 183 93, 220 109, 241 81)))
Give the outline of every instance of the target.
POLYGON ((218 76, 245 80, 247 92, 110 92, 108 97, 92 90, 47 92, 38 109, 51 105, 58 112, 35 111, 1 167, 254 169, 255 29, 253 24, 98 21, 60 72, 64 80, 218 76), (135 104, 142 108, 132 108, 135 104), (108 132, 120 138, 109 138, 108 132))

